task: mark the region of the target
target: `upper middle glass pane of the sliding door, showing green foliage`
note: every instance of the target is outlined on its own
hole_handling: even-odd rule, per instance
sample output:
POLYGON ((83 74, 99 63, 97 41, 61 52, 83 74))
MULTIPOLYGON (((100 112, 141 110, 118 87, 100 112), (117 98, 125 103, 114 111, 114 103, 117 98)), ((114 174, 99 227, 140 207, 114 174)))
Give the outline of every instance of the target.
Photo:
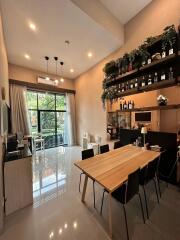
POLYGON ((55 95, 49 93, 38 93, 39 110, 55 110, 55 95))

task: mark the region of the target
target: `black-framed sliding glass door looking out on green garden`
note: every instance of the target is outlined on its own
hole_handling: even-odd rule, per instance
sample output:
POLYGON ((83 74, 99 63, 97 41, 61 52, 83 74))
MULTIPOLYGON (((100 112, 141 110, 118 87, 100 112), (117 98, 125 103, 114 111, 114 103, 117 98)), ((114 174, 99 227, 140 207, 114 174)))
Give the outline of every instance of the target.
POLYGON ((67 144, 65 95, 27 92, 31 133, 41 133, 45 147, 67 144))

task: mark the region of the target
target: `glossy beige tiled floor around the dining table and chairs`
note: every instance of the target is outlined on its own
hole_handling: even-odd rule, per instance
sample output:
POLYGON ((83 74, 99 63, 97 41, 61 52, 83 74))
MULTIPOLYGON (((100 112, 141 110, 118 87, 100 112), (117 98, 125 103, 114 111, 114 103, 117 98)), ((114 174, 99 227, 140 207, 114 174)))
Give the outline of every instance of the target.
MULTIPOLYGON (((73 162, 80 159, 79 147, 46 150, 33 160, 34 205, 7 217, 0 240, 106 240, 109 239, 107 199, 103 217, 99 215, 102 188, 96 184, 96 210, 93 208, 92 182, 86 205, 78 192, 80 171, 73 162)), ((134 240, 180 239, 180 192, 161 183, 162 198, 157 204, 153 184, 148 185, 150 220, 143 224, 138 198, 127 205, 130 238, 134 240)), ((115 240, 127 239, 122 207, 115 200, 113 233, 115 240)))

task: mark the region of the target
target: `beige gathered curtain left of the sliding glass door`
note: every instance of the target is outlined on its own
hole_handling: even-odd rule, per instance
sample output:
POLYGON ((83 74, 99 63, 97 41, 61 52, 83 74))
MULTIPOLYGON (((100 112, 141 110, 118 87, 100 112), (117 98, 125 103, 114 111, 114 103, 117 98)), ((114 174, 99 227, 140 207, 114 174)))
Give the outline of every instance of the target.
POLYGON ((30 134, 26 87, 10 84, 12 133, 30 134))

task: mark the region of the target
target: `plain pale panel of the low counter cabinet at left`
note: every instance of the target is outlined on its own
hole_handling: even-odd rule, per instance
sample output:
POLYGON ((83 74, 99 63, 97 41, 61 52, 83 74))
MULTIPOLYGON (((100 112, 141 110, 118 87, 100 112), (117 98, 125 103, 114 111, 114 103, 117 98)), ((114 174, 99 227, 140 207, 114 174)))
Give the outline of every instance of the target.
POLYGON ((6 162, 4 179, 6 215, 33 203, 31 157, 6 162))

